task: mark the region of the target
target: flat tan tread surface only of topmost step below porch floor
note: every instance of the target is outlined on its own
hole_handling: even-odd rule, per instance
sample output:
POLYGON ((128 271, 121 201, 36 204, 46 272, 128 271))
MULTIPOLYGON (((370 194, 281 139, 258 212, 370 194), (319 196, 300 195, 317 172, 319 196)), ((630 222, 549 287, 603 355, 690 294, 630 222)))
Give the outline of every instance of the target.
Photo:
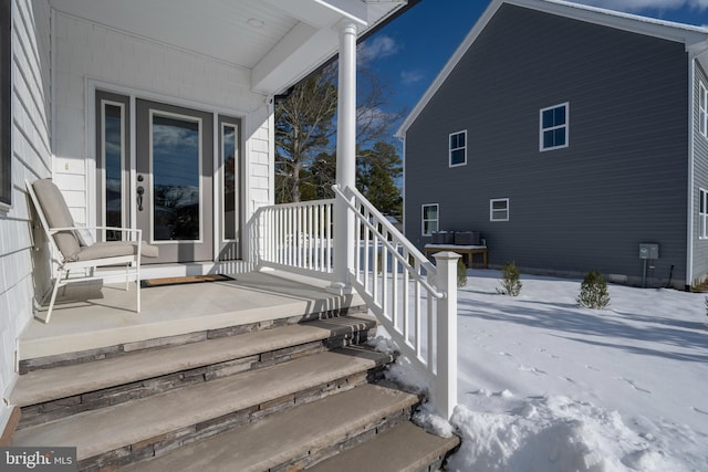
POLYGON ((356 327, 373 326, 366 317, 346 316, 283 326, 181 346, 147 349, 79 365, 34 370, 20 376, 10 403, 20 407, 71 397, 269 350, 326 339, 356 327), (368 326, 371 325, 371 326, 368 326))

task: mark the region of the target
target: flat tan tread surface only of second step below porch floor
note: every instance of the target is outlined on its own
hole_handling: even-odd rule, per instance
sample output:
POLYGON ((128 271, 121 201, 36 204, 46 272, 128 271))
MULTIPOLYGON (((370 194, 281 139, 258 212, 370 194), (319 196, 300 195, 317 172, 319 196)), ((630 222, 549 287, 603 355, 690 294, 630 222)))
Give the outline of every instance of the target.
POLYGON ((355 347, 86 411, 17 431, 13 445, 77 447, 83 460, 358 374, 389 356, 355 347))

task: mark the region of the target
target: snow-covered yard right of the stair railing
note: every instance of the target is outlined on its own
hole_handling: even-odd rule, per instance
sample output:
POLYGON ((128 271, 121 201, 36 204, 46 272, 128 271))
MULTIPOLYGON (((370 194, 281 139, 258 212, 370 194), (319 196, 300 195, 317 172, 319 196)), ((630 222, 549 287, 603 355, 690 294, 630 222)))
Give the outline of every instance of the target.
POLYGON ((581 281, 498 271, 459 291, 458 471, 708 471, 704 294, 610 285, 577 306, 581 281))

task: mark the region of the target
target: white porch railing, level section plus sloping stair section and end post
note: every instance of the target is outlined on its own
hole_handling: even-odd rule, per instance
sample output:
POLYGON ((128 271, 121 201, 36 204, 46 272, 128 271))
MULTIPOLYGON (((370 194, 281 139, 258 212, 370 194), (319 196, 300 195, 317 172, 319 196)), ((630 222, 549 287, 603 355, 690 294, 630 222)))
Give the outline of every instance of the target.
MULTIPOLYGON (((416 370, 438 415, 457 405, 457 260, 433 265, 356 189, 334 187, 355 217, 348 281, 416 370)), ((333 200, 267 207, 256 214, 261 265, 332 280, 333 200)))

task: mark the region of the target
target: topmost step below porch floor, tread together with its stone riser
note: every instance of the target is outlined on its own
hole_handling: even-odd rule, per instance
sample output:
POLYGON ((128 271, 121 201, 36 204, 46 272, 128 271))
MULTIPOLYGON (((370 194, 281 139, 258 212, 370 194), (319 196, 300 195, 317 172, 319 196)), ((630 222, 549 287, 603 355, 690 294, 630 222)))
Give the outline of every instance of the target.
POLYGON ((20 428, 31 427, 327 348, 358 344, 375 326, 369 316, 348 315, 33 370, 20 376, 9 402, 23 407, 20 428))

